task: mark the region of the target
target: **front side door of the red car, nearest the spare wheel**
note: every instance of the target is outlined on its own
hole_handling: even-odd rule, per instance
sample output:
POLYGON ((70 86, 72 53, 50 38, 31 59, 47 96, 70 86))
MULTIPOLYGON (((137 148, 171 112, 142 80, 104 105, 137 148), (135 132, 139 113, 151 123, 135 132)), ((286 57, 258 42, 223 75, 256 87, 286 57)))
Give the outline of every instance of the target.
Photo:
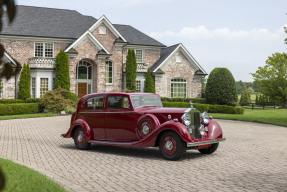
POLYGON ((106 140, 137 140, 135 133, 135 113, 131 107, 129 97, 123 95, 107 95, 106 101, 106 140))

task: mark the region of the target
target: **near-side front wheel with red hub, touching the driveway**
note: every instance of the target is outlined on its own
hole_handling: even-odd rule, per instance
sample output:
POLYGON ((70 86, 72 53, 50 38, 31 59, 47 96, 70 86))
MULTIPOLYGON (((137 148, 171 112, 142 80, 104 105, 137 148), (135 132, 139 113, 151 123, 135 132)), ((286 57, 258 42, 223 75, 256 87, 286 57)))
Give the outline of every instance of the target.
POLYGON ((172 161, 176 161, 182 157, 185 145, 186 143, 181 137, 173 131, 164 133, 159 140, 159 150, 162 156, 172 161))

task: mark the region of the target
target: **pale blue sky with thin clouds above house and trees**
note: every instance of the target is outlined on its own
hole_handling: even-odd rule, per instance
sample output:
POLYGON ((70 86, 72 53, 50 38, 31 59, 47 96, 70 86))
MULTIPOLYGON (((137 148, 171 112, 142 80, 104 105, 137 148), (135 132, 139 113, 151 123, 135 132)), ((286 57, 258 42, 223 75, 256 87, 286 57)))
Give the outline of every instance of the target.
POLYGON ((236 81, 275 52, 287 52, 286 0, 16 0, 18 5, 76 10, 135 27, 166 46, 182 43, 209 74, 226 67, 236 81))

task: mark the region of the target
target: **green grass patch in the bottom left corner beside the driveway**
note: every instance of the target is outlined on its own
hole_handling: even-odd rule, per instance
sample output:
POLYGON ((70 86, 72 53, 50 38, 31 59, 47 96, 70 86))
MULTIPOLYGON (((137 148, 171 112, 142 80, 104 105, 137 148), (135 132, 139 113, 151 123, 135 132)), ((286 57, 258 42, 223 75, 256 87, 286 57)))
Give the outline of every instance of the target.
POLYGON ((66 191, 61 185, 55 183, 45 175, 23 165, 1 158, 0 165, 6 178, 3 192, 66 191))

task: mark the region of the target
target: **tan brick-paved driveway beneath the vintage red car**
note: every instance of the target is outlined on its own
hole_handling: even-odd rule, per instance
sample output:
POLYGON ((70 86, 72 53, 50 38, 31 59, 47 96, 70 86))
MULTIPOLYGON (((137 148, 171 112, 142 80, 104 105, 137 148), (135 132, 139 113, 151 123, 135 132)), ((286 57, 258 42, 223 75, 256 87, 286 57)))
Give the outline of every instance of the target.
POLYGON ((31 167, 70 191, 287 191, 287 128, 218 120, 225 142, 212 155, 164 160, 157 148, 63 139, 70 116, 0 121, 0 157, 31 167))

